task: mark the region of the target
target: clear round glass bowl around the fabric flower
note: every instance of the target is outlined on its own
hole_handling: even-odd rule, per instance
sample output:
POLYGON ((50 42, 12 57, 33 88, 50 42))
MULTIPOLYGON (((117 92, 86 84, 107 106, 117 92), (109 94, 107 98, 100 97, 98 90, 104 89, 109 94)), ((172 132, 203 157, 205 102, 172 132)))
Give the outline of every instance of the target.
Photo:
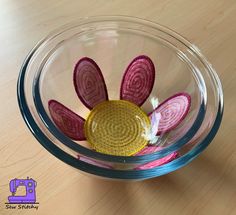
POLYGON ((193 160, 214 138, 223 114, 219 78, 198 48, 179 34, 159 24, 123 16, 101 16, 78 20, 61 27, 40 41, 23 63, 18 79, 18 102, 23 118, 50 153, 89 174, 143 180, 174 171, 193 160), (109 99, 119 99, 122 76, 130 61, 147 55, 156 67, 155 84, 142 109, 152 111, 150 98, 160 101, 177 92, 191 96, 187 117, 178 127, 161 135, 161 150, 141 156, 113 156, 96 152, 86 141, 73 141, 53 123, 48 101, 55 99, 86 118, 89 110, 73 87, 73 69, 84 57, 100 66, 109 99), (179 157, 158 167, 135 167, 178 152, 179 157), (105 166, 93 165, 87 159, 105 166))

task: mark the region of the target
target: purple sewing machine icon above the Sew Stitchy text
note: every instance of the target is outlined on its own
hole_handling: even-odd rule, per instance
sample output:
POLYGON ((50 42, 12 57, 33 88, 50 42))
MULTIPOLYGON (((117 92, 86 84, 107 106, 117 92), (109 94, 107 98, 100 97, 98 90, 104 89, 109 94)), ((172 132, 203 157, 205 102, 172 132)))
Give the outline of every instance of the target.
POLYGON ((24 203, 36 203, 36 181, 32 178, 27 177, 27 179, 12 179, 9 183, 11 196, 8 196, 9 203, 15 204, 24 204, 24 203), (25 186, 26 195, 25 196, 17 196, 16 191, 19 186, 25 186))

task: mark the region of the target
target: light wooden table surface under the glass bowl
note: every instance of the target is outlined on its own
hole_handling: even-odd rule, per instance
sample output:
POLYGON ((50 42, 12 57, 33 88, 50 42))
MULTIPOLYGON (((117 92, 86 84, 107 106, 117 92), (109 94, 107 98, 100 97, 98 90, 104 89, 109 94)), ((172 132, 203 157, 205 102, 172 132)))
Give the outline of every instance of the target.
POLYGON ((236 214, 235 0, 1 0, 0 214, 236 214), (87 177, 48 153, 26 127, 16 98, 22 61, 51 30, 91 15, 131 15, 197 45, 224 88, 225 112, 212 144, 192 163, 142 182, 87 177), (9 181, 37 181, 39 209, 5 209, 9 181))

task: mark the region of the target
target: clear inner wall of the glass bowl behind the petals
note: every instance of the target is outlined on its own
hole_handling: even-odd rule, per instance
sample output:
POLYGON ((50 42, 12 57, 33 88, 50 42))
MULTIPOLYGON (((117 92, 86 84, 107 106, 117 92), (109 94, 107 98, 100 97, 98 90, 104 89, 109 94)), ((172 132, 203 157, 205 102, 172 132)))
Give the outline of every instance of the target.
MULTIPOLYGON (((157 145, 163 148, 181 139, 198 118, 202 103, 199 76, 194 65, 173 44, 158 35, 142 29, 119 28, 104 25, 84 32, 64 33, 63 40, 54 44, 41 63, 39 94, 48 114, 48 101, 55 99, 83 118, 90 110, 78 98, 73 85, 73 70, 82 57, 92 58, 101 68, 110 100, 120 99, 120 86, 125 69, 139 55, 149 56, 155 65, 155 82, 152 92, 142 105, 145 113, 153 110, 151 98, 160 102, 178 93, 191 96, 187 117, 178 127, 161 135, 157 145)), ((77 144, 90 148, 86 141, 77 144)))

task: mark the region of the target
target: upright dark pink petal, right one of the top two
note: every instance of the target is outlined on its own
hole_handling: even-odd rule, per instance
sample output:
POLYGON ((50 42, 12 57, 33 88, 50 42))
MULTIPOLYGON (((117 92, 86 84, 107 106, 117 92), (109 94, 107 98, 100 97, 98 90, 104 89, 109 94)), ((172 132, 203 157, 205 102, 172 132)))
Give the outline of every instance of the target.
POLYGON ((155 80, 152 60, 144 55, 136 57, 127 67, 120 88, 120 99, 141 106, 150 95, 155 80))

